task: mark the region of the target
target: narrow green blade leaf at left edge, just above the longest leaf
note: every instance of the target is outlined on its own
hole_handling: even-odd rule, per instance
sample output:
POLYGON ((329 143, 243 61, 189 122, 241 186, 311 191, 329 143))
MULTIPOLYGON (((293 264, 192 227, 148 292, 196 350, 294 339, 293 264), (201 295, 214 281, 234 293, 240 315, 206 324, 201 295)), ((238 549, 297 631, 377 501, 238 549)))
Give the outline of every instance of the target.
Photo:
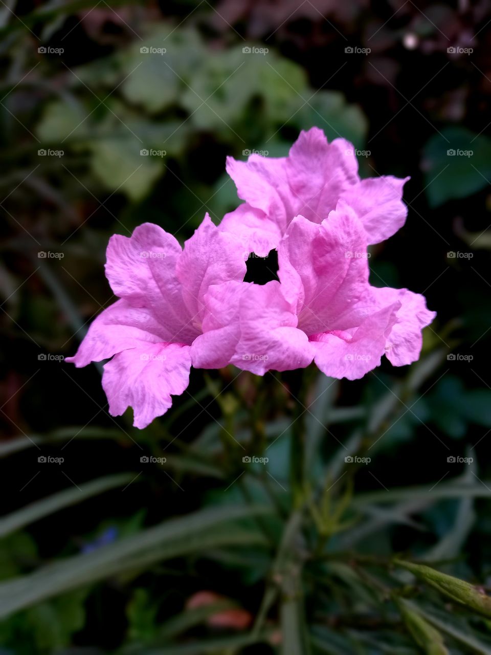
POLYGON ((21 510, 7 514, 0 519, 0 537, 10 534, 30 523, 39 521, 45 516, 59 512, 66 507, 75 505, 86 498, 98 496, 109 489, 126 486, 134 479, 134 473, 123 473, 115 476, 100 477, 86 482, 79 487, 70 487, 43 500, 37 500, 21 510))

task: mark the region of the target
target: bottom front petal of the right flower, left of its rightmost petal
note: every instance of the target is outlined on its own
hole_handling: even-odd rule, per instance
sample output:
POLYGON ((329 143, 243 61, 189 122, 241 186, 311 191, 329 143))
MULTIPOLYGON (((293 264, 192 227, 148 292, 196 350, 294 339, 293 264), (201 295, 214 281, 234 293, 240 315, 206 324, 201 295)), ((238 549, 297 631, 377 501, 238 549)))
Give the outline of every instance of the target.
POLYGON ((401 303, 393 303, 365 318, 359 327, 310 337, 314 360, 329 377, 357 380, 380 365, 386 340, 401 303))

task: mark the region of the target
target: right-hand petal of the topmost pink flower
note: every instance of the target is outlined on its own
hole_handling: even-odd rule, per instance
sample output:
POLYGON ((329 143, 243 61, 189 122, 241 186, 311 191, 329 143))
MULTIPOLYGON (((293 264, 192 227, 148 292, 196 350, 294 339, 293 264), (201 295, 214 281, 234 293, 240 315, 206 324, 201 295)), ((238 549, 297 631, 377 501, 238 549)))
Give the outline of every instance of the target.
POLYGON ((363 223, 369 244, 378 244, 403 227, 407 218, 403 186, 408 180, 392 176, 362 179, 341 194, 363 223))

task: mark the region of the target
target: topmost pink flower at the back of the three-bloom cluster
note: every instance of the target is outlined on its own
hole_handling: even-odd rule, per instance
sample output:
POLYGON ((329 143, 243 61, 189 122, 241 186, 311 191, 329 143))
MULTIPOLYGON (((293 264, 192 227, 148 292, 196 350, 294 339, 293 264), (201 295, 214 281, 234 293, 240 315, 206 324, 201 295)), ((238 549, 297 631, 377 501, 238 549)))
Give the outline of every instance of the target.
POLYGON ((240 236, 249 252, 267 255, 297 215, 322 223, 338 200, 345 200, 363 223, 369 244, 385 240, 406 220, 403 185, 409 178, 361 180, 354 146, 344 139, 327 143, 319 128, 300 132, 288 157, 250 155, 227 158, 227 172, 242 200, 225 215, 220 229, 240 236))

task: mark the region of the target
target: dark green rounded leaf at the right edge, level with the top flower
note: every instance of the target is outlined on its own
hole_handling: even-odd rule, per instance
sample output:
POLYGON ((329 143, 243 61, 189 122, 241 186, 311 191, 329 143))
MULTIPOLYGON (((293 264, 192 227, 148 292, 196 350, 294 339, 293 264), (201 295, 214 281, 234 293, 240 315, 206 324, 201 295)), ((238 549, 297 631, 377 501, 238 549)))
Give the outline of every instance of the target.
POLYGON ((444 128, 427 141, 421 168, 432 207, 452 198, 465 198, 489 184, 491 140, 463 127, 444 128), (452 152, 454 155, 448 154, 452 152), (469 152, 473 154, 462 154, 469 152))

